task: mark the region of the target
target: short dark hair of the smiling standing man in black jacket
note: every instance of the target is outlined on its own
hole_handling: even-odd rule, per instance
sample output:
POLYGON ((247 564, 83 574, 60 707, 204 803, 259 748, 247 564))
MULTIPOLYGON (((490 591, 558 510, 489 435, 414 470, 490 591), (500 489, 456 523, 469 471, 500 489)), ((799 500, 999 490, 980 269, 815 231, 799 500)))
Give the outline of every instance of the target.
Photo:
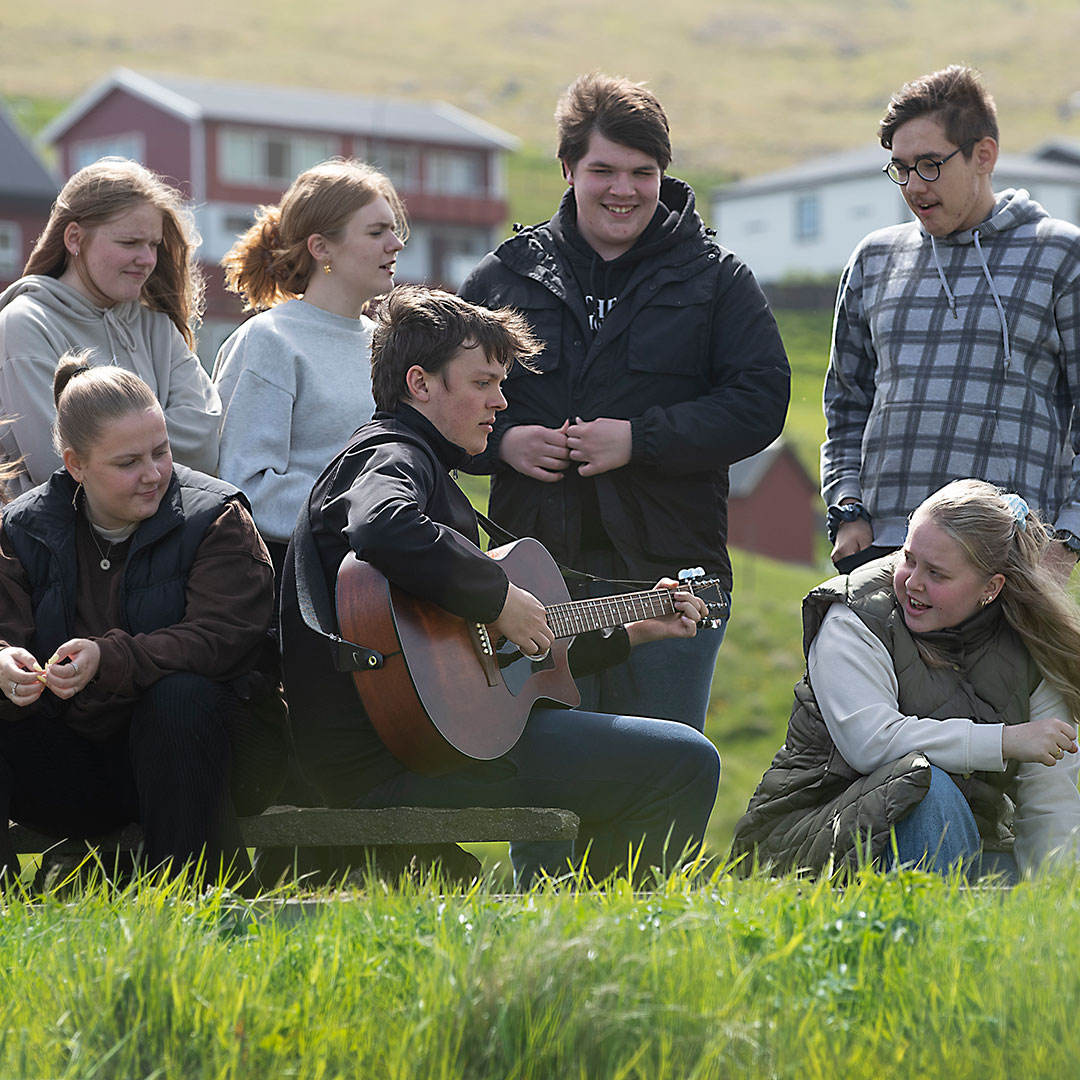
POLYGON ((585 156, 593 132, 647 153, 664 172, 672 162, 671 130, 664 107, 644 82, 623 76, 578 76, 555 106, 558 159, 573 167, 585 156))

